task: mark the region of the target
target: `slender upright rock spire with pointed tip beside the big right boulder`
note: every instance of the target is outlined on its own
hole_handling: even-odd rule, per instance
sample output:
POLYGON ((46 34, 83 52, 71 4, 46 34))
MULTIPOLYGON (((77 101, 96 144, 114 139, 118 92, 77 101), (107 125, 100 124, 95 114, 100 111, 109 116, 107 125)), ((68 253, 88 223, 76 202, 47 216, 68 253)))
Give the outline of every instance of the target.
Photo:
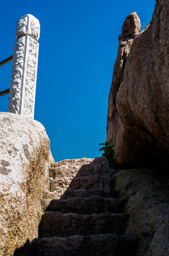
POLYGON ((130 48, 132 47, 134 38, 138 35, 140 29, 141 23, 139 17, 136 13, 133 13, 126 18, 126 21, 124 21, 122 34, 119 36, 119 48, 113 71, 107 113, 107 142, 113 141, 115 145, 117 140, 117 131, 119 129, 116 96, 120 85, 124 81, 123 72, 127 56, 130 48))

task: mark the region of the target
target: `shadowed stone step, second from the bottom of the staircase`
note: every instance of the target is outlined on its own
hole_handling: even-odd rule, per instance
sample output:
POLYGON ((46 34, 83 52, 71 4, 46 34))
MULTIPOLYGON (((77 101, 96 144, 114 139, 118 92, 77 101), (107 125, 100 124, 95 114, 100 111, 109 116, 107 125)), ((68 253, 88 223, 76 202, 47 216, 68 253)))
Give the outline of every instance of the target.
POLYGON ((127 218, 124 213, 81 215, 46 211, 40 222, 39 238, 100 233, 123 235, 127 218))

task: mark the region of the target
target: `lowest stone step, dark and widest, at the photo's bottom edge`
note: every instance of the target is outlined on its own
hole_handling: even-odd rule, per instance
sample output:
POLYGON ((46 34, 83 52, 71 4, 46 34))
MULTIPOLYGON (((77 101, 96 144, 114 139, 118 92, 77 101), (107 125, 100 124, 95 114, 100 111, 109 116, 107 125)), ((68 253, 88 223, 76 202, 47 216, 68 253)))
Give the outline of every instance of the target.
POLYGON ((137 245, 134 237, 113 234, 36 238, 15 256, 135 256, 137 245))

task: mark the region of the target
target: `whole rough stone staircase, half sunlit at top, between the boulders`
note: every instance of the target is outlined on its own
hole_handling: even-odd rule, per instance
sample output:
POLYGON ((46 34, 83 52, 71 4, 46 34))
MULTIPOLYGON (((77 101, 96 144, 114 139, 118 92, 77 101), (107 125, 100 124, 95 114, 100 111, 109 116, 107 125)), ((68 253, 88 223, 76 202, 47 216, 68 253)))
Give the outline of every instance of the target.
POLYGON ((126 202, 118 199, 115 172, 105 157, 53 164, 39 238, 28 255, 136 255, 137 239, 124 236, 129 216, 122 213, 126 202))

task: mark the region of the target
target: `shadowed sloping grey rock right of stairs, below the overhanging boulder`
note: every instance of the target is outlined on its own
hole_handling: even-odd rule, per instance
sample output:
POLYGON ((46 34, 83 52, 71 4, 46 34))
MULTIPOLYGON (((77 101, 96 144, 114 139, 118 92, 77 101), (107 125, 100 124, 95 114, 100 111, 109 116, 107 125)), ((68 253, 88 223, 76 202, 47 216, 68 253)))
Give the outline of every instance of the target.
POLYGON ((130 169, 115 174, 120 198, 129 213, 125 235, 139 238, 137 256, 169 255, 168 178, 151 169, 130 169))

